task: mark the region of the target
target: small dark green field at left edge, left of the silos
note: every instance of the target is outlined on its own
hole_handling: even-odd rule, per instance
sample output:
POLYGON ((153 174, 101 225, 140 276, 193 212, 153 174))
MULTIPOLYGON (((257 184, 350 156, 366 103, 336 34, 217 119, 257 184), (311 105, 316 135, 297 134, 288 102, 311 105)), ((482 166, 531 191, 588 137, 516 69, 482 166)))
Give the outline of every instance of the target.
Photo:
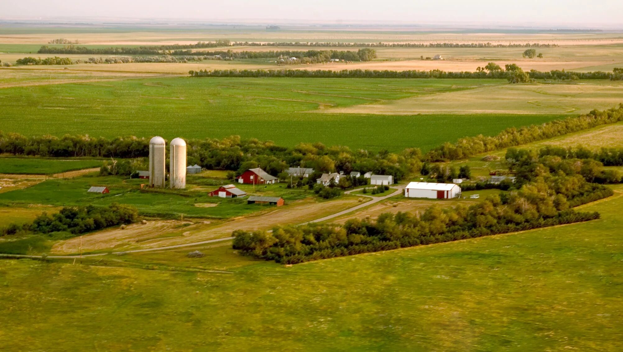
POLYGON ((101 160, 0 158, 0 174, 57 174, 99 166, 101 160))

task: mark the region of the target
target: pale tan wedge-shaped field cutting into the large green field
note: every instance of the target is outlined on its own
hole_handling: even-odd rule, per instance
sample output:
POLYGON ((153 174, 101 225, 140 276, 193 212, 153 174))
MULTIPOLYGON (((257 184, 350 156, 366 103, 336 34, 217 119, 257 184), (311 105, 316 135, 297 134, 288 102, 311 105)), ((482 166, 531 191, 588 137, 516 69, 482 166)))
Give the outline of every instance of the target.
POLYGON ((381 103, 318 110, 324 113, 585 113, 611 108, 623 102, 623 83, 578 84, 526 83, 498 85, 436 93, 381 103))

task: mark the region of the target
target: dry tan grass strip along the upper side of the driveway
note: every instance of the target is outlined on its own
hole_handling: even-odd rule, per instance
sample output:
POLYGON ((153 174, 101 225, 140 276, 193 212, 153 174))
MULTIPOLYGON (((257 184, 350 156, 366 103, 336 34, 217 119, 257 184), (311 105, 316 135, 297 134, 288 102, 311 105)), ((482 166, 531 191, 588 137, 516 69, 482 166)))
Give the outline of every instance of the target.
MULTIPOLYGON (((316 202, 312 199, 292 202, 270 212, 239 217, 227 222, 199 223, 179 227, 176 221, 152 221, 147 225, 135 224, 126 229, 108 229, 82 236, 85 252, 105 249, 136 249, 185 244, 202 240, 216 239, 231 235, 234 230, 269 230, 280 224, 299 224, 327 216, 359 204, 356 197, 335 201, 316 202)), ((77 253, 80 238, 64 240, 52 247, 52 252, 77 253)))

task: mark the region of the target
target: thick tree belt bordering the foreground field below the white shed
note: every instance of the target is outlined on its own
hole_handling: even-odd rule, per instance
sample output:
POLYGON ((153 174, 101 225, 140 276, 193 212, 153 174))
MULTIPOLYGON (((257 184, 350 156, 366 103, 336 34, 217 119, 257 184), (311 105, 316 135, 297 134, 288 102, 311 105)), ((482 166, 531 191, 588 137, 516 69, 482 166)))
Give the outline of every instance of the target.
POLYGON ((568 198, 556 193, 552 183, 540 178, 504 197, 489 196, 470 207, 434 206, 421 215, 386 213, 376 220, 352 219, 343 226, 307 224, 277 226, 272 232, 234 231, 233 247, 245 255, 296 264, 599 218, 596 212, 569 209, 568 198))

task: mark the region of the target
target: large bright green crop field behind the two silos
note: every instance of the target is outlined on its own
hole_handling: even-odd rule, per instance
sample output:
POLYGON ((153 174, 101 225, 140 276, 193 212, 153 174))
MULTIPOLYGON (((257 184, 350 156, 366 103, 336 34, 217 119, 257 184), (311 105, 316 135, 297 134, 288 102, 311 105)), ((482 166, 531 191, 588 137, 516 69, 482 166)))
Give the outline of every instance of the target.
MULTIPOLYGON (((88 133, 165 138, 243 138, 278 145, 322 142, 352 148, 424 150, 445 141, 556 114, 366 115, 318 108, 383 103, 407 97, 506 84, 503 80, 355 78, 144 78, 2 89, 0 130, 26 135, 88 133)), ((486 104, 486 102, 483 102, 486 104)), ((534 112, 531 112, 534 113, 534 112)))

